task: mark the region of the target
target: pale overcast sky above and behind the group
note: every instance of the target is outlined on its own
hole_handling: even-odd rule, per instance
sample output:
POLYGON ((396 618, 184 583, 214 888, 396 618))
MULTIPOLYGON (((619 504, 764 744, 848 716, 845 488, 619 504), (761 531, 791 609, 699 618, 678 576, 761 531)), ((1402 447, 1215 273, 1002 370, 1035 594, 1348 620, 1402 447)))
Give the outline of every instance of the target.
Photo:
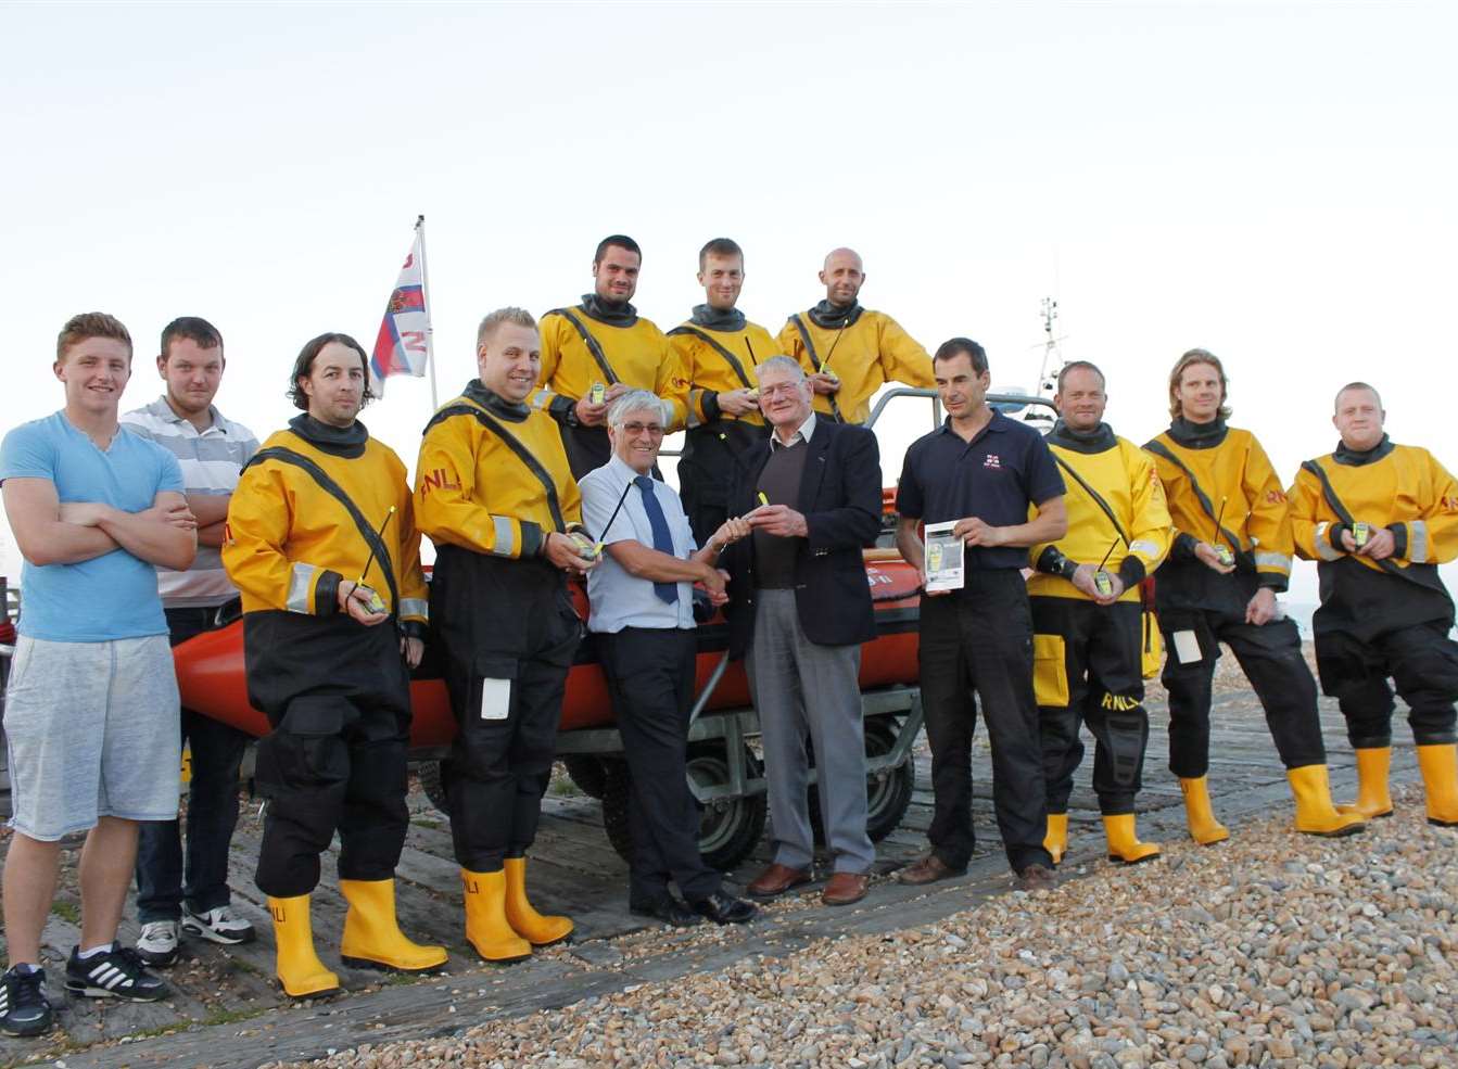
MULTIPOLYGON (((55 333, 102 309, 137 341, 124 408, 159 392, 160 327, 203 315, 222 408, 265 436, 305 340, 370 346, 424 213, 442 400, 480 316, 576 300, 601 236, 643 245, 636 303, 666 330, 728 235, 771 333, 849 244, 863 303, 929 349, 980 340, 999 388, 1034 385, 1056 295, 1136 440, 1203 346, 1283 478, 1333 446, 1352 378, 1458 467, 1454 4, 0 4, 0 26, 6 427, 61 404, 55 333)), ((395 378, 364 420, 413 465, 429 407, 395 378)), ((888 478, 921 419, 886 435, 888 478)))

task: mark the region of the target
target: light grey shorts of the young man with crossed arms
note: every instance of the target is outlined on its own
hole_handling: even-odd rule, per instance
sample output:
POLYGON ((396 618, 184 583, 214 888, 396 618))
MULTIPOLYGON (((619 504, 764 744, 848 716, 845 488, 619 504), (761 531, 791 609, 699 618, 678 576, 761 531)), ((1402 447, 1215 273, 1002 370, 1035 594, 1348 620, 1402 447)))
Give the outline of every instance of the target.
POLYGON ((176 820, 181 729, 168 636, 20 636, 4 700, 10 827, 41 841, 101 817, 176 820))

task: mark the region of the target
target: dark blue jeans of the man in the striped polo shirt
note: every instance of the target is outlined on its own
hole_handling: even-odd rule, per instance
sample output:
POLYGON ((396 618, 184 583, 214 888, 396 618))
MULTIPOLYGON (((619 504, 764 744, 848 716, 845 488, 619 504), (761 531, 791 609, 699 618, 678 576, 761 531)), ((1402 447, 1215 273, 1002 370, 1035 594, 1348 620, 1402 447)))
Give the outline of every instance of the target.
MULTIPOLYGON (((216 608, 169 608, 174 646, 211 627, 216 608)), ((238 824, 238 769, 249 736, 226 723, 182 709, 182 741, 192 751, 192 782, 187 806, 187 882, 179 823, 141 825, 137 841, 137 916, 179 920, 182 901, 194 913, 226 906, 227 852, 238 824)))

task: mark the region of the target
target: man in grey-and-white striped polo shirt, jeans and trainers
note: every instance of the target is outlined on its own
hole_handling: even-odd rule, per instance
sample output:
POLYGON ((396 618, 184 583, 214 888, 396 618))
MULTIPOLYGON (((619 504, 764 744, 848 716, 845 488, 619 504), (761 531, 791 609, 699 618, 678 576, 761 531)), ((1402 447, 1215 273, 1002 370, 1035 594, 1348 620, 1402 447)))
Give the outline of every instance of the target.
MULTIPOLYGON (((219 547, 238 473, 258 449, 254 433, 213 407, 223 378, 223 338, 197 316, 162 331, 157 372, 166 392, 121 417, 121 424, 176 456, 188 508, 197 515, 197 559, 187 572, 157 569, 157 591, 174 646, 217 626, 238 591, 227 580, 219 547)), ((227 850, 238 824, 238 767, 248 735, 182 709, 182 738, 191 750, 187 863, 178 821, 141 825, 137 844, 137 952, 171 965, 182 932, 225 945, 249 942, 251 923, 229 903, 227 850), (184 882, 185 874, 185 882, 184 882), (184 909, 185 907, 185 909, 184 909)))

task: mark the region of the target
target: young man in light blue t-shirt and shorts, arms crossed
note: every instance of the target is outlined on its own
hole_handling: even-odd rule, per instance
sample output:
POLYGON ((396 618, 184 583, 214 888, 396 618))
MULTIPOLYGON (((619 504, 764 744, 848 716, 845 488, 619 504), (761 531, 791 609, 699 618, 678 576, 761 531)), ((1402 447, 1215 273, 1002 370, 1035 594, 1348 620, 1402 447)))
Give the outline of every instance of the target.
POLYGON ((15 836, 4 865, 0 1031, 52 1024, 41 929, 55 894, 60 840, 86 831, 82 935, 66 989, 152 1002, 168 986, 117 942, 139 821, 178 808, 176 677, 156 566, 187 569, 197 522, 182 471, 117 420, 131 335, 102 312, 73 316, 55 344, 66 407, 0 445, 0 489, 25 557, 25 596, 4 728, 15 836))

